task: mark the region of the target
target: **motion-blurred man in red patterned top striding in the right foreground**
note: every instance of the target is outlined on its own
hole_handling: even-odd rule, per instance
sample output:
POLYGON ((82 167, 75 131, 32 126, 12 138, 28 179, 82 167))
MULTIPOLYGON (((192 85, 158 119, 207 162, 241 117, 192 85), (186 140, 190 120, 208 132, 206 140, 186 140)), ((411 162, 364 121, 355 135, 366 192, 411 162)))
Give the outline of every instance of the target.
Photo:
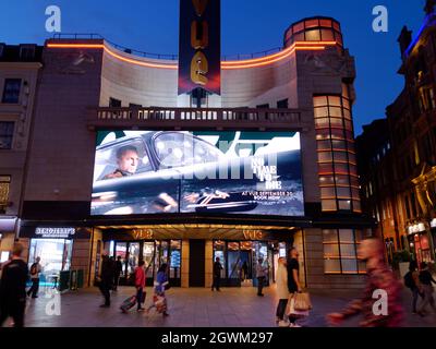
MULTIPOLYGON (((403 320, 401 306, 401 284, 396 279, 384 258, 384 245, 378 239, 365 239, 359 246, 359 257, 366 262, 366 287, 361 299, 352 301, 339 313, 327 315, 331 325, 339 325, 343 320, 362 314, 362 327, 399 327, 403 320), (387 312, 374 312, 377 299, 374 291, 386 292, 387 312)), ((383 305, 383 304, 382 304, 383 305)))

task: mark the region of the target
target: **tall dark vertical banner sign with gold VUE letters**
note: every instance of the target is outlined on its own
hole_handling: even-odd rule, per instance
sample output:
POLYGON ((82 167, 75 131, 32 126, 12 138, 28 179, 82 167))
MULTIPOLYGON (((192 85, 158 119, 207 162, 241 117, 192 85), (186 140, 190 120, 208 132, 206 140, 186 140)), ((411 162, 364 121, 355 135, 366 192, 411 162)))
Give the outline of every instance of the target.
POLYGON ((197 87, 220 95, 220 0, 180 0, 179 95, 197 87))

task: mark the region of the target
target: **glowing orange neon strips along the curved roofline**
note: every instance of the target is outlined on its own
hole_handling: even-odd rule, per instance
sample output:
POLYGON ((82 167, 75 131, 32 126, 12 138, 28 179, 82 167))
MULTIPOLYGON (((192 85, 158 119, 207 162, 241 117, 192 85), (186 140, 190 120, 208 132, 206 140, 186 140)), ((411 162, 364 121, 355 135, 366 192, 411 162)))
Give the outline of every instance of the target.
MULTIPOLYGON (((241 60, 241 61, 223 61, 223 62, 221 62, 221 69, 232 70, 232 69, 263 67, 263 65, 278 62, 284 58, 288 58, 296 50, 318 51, 318 50, 324 50, 326 48, 326 46, 335 46, 335 45, 338 45, 338 43, 337 41, 296 41, 289 48, 287 48, 280 52, 274 53, 271 56, 249 59, 249 60, 241 60)), ((50 44, 47 44, 47 47, 48 48, 104 49, 105 52, 112 56, 113 58, 117 58, 117 59, 128 62, 128 63, 141 65, 141 67, 147 67, 147 68, 172 69, 172 70, 178 69, 178 64, 159 64, 159 63, 144 62, 144 61, 141 61, 137 59, 131 59, 131 58, 123 57, 123 56, 118 55, 117 52, 112 51, 110 48, 108 48, 104 44, 53 44, 53 43, 50 43, 50 44)))

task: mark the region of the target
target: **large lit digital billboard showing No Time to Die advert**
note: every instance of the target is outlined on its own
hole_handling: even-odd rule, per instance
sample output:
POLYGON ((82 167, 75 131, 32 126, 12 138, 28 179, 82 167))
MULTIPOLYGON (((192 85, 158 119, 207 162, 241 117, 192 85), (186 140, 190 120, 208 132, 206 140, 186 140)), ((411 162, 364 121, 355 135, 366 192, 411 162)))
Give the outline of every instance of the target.
POLYGON ((304 216, 300 133, 99 131, 90 212, 304 216))

